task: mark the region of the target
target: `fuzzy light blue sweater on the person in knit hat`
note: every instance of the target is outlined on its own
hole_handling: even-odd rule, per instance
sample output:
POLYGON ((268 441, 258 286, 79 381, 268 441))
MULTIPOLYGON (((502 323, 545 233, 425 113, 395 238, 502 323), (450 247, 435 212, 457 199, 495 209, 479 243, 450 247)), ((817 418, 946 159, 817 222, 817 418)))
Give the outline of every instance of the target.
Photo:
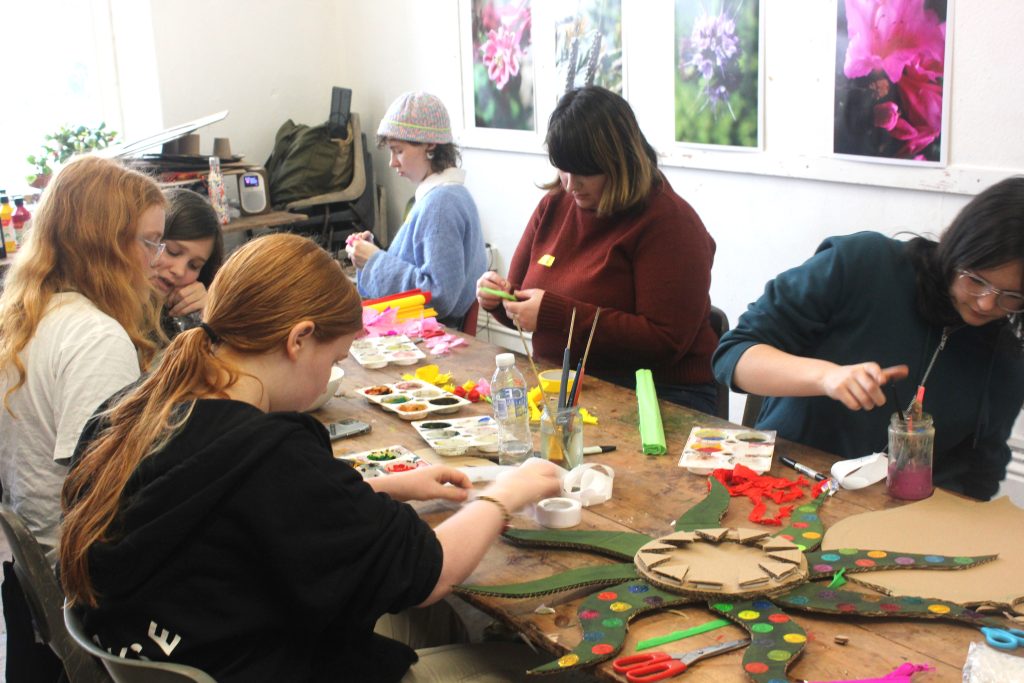
POLYGON ((480 217, 462 185, 440 185, 417 202, 387 251, 359 270, 359 294, 377 298, 411 289, 429 291, 440 318, 463 315, 487 266, 480 217))

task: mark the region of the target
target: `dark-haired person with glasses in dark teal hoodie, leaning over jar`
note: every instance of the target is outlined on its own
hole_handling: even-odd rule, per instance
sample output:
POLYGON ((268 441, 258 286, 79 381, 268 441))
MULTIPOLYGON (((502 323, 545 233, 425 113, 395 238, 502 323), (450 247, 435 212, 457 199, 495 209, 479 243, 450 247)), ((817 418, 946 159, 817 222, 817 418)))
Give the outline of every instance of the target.
MULTIPOLYGON (((722 338, 719 381, 766 396, 757 426, 844 458, 884 451, 883 387, 928 375, 936 484, 988 500, 1024 402, 1024 177, 971 201, 939 242, 825 240, 722 338)), ((889 394, 893 395, 892 393, 889 394)), ((902 409, 904 405, 898 408, 902 409)))

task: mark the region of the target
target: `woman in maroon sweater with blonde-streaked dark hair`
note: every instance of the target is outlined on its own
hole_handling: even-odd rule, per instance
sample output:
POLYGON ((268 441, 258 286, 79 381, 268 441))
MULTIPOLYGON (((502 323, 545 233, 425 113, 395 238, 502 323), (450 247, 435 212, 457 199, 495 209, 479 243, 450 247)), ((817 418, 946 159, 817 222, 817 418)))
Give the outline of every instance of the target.
POLYGON ((535 352, 559 364, 574 307, 573 367, 600 306, 588 375, 633 386, 636 370, 649 368, 660 398, 714 413, 715 242, 700 217, 657 170, 629 103, 608 90, 566 93, 546 142, 558 177, 545 185, 508 279, 489 271, 478 281, 480 306, 506 326, 518 319, 535 352))

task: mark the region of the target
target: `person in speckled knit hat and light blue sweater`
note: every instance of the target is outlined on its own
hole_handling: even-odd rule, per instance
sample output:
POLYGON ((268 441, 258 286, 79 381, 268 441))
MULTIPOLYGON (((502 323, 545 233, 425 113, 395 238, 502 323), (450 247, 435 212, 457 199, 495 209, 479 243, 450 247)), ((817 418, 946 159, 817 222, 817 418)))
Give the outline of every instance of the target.
POLYGON ((480 216, 458 167, 447 110, 435 95, 407 92, 381 119, 377 144, 387 147, 391 168, 416 185, 416 201, 387 251, 369 231, 349 238, 346 250, 358 269, 359 294, 430 292, 437 318, 460 329, 487 257, 480 216))

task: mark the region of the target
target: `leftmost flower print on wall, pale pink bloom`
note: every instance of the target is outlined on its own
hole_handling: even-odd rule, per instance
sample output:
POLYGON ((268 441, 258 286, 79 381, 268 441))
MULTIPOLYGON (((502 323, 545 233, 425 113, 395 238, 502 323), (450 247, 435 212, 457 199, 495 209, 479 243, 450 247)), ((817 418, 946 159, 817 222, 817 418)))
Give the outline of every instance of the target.
POLYGON ((534 130, 529 0, 473 0, 473 112, 478 128, 534 130))

